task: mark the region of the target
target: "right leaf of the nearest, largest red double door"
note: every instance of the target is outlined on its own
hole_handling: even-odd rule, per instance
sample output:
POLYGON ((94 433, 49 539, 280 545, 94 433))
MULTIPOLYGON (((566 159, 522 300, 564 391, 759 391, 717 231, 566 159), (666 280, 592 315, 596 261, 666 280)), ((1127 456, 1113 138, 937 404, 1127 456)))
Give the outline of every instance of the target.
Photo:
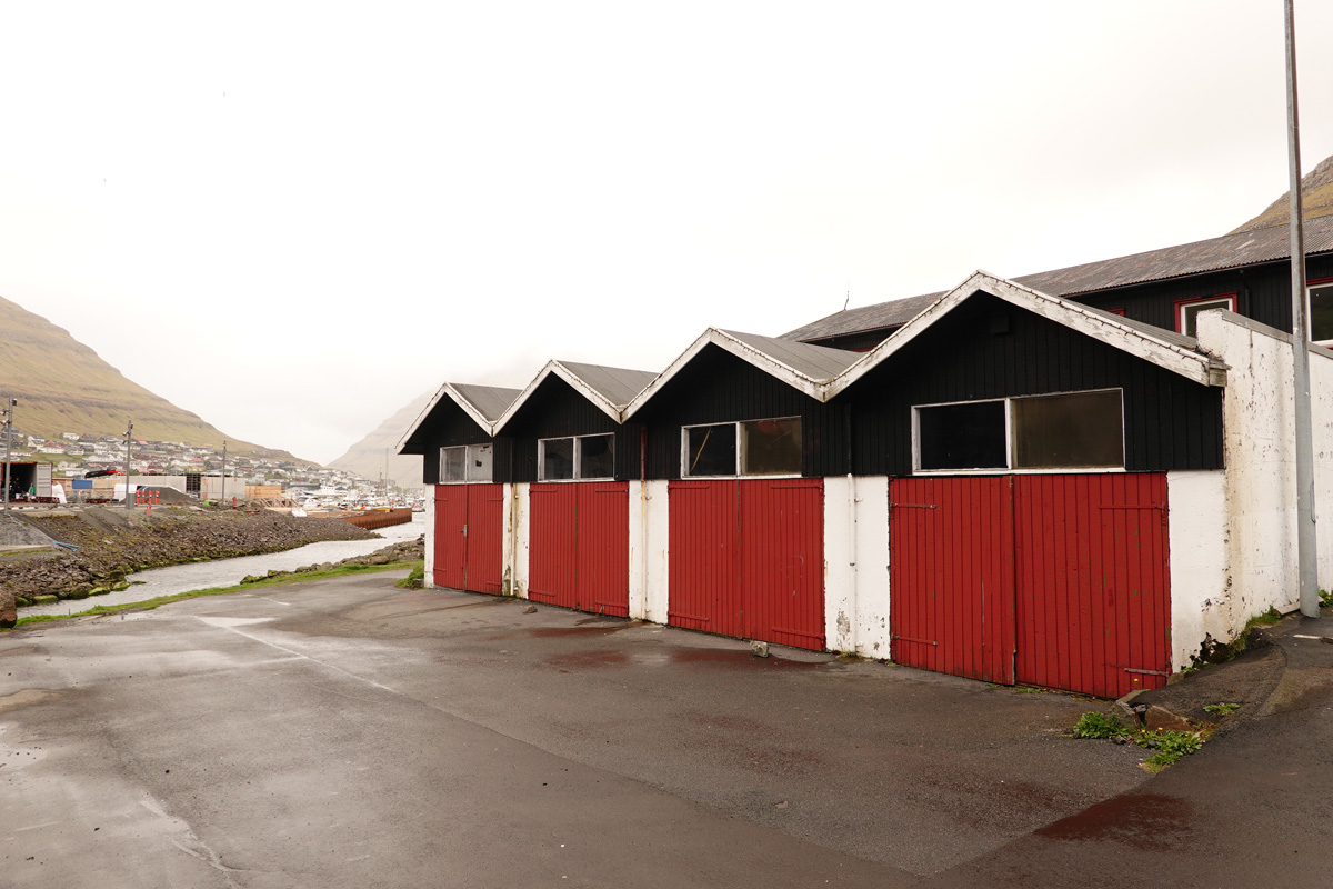
POLYGON ((1098 697, 1170 672, 1166 476, 1018 476, 1017 680, 1098 697))

